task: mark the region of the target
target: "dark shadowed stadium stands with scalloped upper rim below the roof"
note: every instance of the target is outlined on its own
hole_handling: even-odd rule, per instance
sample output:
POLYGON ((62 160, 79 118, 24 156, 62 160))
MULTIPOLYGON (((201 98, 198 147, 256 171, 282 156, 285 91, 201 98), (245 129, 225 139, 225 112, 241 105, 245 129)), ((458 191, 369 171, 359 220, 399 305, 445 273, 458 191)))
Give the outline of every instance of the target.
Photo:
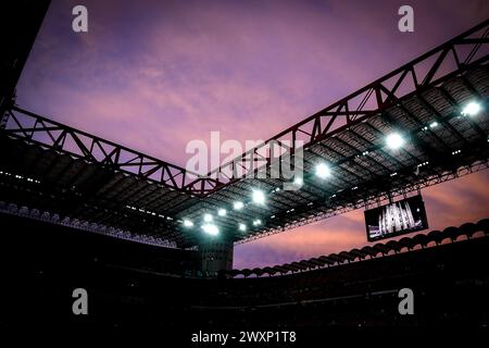
MULTIPOLYGON (((20 219, 1 217, 5 224, 7 219, 20 219)), ((2 326, 80 322, 166 328, 484 326, 489 322, 489 220, 305 262, 231 271, 218 278, 185 272, 198 262, 195 251, 135 246, 59 225, 40 231, 38 221, 33 225, 26 221, 22 234, 3 234, 2 264, 15 266, 3 272, 1 291, 10 301, 0 314, 2 326), (71 295, 77 287, 90 296, 90 315, 85 318, 71 312, 71 295), (405 287, 415 294, 415 315, 398 312, 398 291, 405 287)), ((14 223, 18 228, 20 222, 14 223)))

